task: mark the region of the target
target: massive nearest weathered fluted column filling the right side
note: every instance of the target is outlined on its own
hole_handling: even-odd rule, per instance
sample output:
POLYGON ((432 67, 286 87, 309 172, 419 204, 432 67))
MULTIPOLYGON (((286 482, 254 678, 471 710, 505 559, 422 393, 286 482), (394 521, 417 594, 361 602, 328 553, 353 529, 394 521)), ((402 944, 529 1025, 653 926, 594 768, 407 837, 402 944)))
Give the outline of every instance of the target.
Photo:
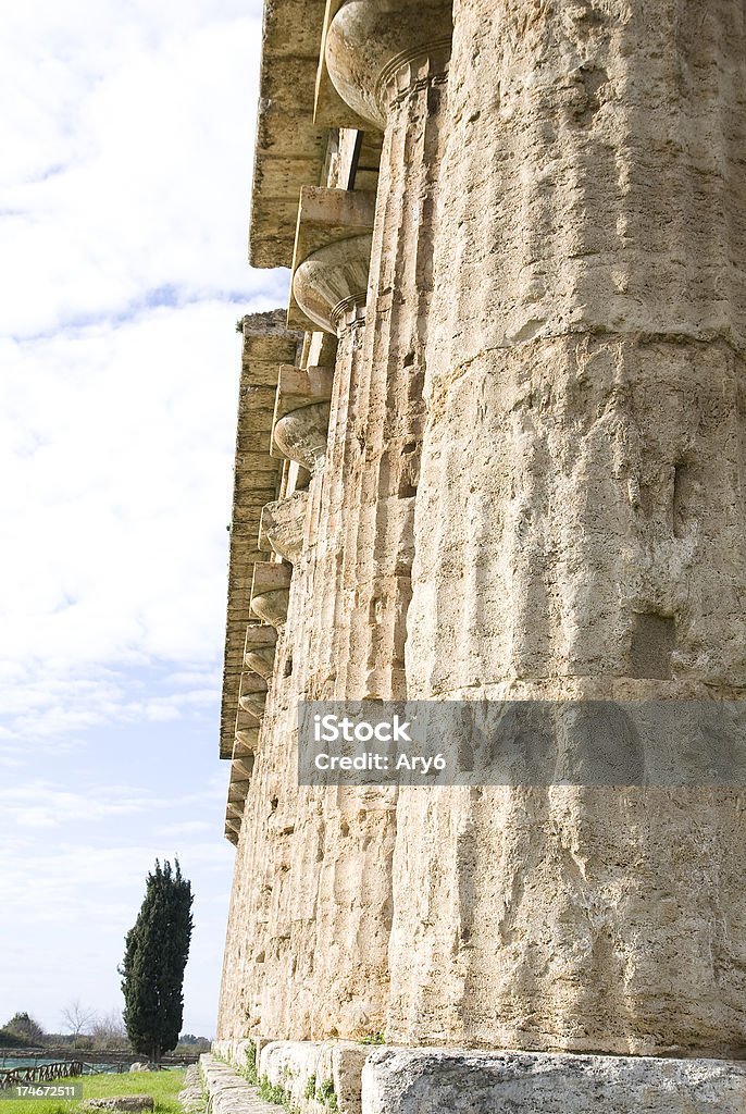
MULTIPOLYGON (((744 6, 455 14, 410 692, 743 695, 744 6)), ((424 798, 394 1039, 743 1048, 743 793, 424 798)))

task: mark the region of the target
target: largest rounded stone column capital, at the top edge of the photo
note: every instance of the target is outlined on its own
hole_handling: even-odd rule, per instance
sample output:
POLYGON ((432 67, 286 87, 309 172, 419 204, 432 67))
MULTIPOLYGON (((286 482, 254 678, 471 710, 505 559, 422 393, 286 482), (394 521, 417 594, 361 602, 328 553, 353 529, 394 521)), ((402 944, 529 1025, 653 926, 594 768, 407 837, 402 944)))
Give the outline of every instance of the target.
POLYGON ((397 95, 448 71, 450 0, 345 0, 326 28, 324 67, 356 116, 384 128, 397 95))

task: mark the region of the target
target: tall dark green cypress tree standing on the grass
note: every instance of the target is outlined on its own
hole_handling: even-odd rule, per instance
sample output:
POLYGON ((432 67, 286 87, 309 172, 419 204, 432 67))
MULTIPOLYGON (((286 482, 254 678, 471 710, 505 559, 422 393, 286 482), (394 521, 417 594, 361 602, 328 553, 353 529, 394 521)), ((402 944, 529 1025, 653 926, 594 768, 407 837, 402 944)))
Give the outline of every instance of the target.
POLYGON ((192 938, 192 886, 178 859, 168 861, 146 882, 145 900, 125 938, 118 968, 125 995, 125 1025, 132 1048, 159 1064, 178 1044, 184 1013, 184 968, 192 938))

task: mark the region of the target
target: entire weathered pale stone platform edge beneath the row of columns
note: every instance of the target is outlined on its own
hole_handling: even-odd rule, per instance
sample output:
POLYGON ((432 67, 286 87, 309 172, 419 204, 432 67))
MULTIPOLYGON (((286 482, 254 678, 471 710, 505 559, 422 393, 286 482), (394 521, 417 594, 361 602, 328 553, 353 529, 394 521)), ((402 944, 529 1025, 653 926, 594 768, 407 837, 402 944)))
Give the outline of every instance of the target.
MULTIPOLYGON (((263 1114, 241 1074, 282 1087, 301 1114, 742 1114, 746 1067, 714 1059, 376 1048, 342 1040, 222 1040, 203 1056, 203 1085, 220 1114, 263 1114), (216 1059, 219 1056, 220 1059, 216 1059), (223 1063, 225 1061, 226 1063, 223 1063)), ((271 1110, 272 1107, 269 1107, 271 1110)))

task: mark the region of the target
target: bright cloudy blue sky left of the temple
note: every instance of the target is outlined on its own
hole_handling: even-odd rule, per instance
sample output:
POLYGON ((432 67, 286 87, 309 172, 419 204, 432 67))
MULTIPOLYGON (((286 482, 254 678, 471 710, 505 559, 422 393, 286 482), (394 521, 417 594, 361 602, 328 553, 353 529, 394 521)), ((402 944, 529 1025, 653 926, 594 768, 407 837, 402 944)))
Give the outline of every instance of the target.
POLYGON ((156 858, 215 1033, 259 0, 0 0, 0 1025, 121 1007, 156 858))

